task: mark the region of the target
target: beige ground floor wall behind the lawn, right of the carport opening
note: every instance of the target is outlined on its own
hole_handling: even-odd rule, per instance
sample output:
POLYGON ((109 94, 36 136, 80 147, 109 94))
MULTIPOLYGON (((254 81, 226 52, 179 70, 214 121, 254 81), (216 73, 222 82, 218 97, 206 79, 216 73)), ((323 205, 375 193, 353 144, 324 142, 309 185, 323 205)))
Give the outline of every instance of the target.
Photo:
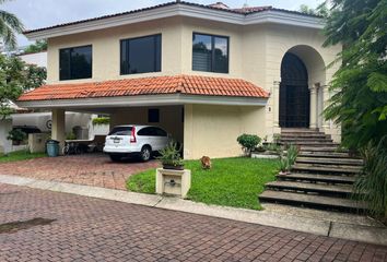
POLYGON ((242 154, 236 138, 243 133, 263 136, 262 107, 186 105, 184 155, 230 157, 242 154))

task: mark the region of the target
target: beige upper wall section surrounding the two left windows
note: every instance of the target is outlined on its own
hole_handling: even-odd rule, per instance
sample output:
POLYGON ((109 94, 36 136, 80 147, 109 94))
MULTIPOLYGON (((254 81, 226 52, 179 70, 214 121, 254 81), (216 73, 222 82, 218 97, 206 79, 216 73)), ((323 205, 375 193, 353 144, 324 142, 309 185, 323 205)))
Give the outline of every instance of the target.
MULTIPOLYGON (((119 26, 109 29, 74 34, 48 39, 48 83, 59 81, 59 49, 84 45, 93 46, 93 79, 104 81, 150 75, 179 74, 180 66, 180 19, 165 19, 153 22, 119 26), (146 35, 162 34, 162 72, 120 75, 120 40, 146 35)), ((61 81, 62 83, 85 80, 61 81)))

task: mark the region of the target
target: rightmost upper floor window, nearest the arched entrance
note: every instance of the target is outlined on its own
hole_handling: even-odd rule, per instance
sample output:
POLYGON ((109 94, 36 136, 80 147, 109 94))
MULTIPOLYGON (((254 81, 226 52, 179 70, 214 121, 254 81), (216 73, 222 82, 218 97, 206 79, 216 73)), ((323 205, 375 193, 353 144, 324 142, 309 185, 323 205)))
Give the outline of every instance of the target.
POLYGON ((192 70, 228 73, 228 37, 194 33, 192 70))

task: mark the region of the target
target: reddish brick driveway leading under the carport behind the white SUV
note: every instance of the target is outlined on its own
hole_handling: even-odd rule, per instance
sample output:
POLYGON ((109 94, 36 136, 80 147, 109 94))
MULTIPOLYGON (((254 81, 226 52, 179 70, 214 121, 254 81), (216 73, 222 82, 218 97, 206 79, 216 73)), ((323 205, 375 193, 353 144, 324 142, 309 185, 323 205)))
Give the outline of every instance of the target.
POLYGON ((71 182, 125 190, 125 181, 136 172, 157 167, 156 160, 128 159, 113 163, 103 154, 43 157, 0 164, 0 175, 16 175, 44 180, 71 182))

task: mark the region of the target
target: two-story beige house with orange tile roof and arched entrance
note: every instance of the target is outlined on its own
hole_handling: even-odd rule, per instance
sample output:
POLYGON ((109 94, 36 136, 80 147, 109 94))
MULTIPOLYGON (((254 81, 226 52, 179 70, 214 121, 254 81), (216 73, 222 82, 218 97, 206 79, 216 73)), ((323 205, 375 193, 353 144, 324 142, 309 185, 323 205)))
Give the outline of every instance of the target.
POLYGON ((183 1, 25 32, 48 39, 47 85, 17 104, 52 111, 63 142, 64 111, 110 115, 110 126, 155 124, 184 143, 186 158, 236 156, 236 138, 283 128, 319 129, 327 68, 322 20, 271 7, 230 9, 183 1))

